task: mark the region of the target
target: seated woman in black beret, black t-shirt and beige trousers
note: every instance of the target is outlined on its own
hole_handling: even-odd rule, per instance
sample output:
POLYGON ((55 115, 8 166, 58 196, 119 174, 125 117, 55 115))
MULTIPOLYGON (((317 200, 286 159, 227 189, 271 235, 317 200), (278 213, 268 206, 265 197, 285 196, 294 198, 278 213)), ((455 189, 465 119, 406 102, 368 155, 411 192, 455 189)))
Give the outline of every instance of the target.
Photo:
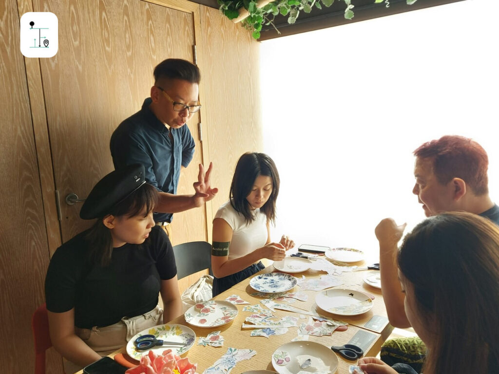
POLYGON ((81 218, 97 218, 94 225, 52 256, 45 297, 50 338, 66 374, 182 313, 172 245, 153 220, 157 196, 142 165, 108 174, 80 211, 81 218))

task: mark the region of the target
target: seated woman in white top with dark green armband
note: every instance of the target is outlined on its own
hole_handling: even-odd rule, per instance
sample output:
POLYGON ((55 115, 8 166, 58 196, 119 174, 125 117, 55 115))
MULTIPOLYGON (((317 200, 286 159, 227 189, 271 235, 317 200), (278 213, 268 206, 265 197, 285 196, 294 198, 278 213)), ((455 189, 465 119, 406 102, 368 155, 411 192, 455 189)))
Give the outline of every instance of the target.
POLYGON ((264 268, 262 258, 280 261, 294 242, 282 235, 270 242, 270 222, 275 222, 279 173, 270 157, 245 153, 236 165, 230 200, 213 220, 213 296, 264 268))

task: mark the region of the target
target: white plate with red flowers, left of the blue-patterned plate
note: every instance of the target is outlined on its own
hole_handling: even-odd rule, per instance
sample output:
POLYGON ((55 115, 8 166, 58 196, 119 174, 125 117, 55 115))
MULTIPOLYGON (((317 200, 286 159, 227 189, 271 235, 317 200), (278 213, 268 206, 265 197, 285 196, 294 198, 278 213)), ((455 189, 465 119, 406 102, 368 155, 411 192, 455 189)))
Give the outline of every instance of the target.
POLYGON ((216 327, 231 322, 237 315, 238 308, 234 304, 225 300, 209 300, 190 307, 184 318, 193 326, 216 327), (204 308, 198 308, 201 305, 204 308))

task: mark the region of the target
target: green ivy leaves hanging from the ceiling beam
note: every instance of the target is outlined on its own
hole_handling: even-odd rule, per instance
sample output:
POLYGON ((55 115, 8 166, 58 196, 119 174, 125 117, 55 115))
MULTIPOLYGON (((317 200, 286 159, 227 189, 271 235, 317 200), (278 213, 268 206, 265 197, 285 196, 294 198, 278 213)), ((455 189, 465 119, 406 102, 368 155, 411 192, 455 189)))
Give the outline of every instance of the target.
MULTIPOLYGON (((322 9, 322 6, 329 7, 333 4, 334 0, 275 0, 268 4, 257 7, 256 0, 217 0, 220 5, 220 11, 223 12, 229 19, 239 17, 240 9, 248 10, 248 17, 243 20, 245 28, 252 32, 253 38, 260 37, 260 31, 263 25, 272 25, 275 30, 273 20, 276 15, 282 14, 287 16, 288 23, 294 23, 300 11, 310 13, 312 7, 322 9)), ((338 0, 345 3, 345 18, 352 19, 354 16, 352 0, 338 0)), ((389 0, 373 0, 375 3, 385 2, 385 6, 390 6, 389 0)), ((411 5, 416 0, 406 0, 407 4, 411 5)))

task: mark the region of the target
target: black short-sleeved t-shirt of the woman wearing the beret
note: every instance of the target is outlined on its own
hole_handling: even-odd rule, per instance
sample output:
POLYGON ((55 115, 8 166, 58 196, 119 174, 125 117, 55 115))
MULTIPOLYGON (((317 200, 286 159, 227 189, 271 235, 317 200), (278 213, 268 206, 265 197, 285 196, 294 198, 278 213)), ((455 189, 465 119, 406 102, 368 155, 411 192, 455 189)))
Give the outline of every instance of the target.
POLYGON ((146 313, 158 304, 162 279, 177 274, 168 236, 159 226, 140 245, 114 248, 109 265, 91 265, 83 231, 55 251, 45 278, 47 309, 75 308, 79 328, 109 326, 123 317, 146 313))

